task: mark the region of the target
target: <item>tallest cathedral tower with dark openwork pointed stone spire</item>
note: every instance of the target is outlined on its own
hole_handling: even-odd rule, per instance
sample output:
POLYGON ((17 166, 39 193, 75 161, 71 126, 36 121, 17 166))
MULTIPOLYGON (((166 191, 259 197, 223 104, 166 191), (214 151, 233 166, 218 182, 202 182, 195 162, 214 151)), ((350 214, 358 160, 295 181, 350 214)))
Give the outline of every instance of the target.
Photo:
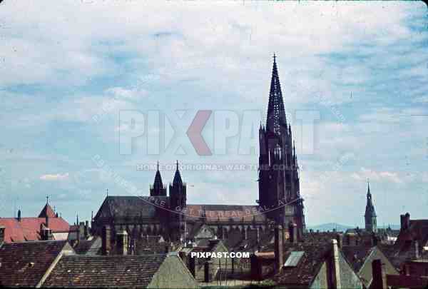
POLYGON ((303 199, 290 124, 287 125, 276 56, 273 56, 266 124, 259 129, 259 199, 267 217, 280 225, 297 225, 305 230, 303 199))

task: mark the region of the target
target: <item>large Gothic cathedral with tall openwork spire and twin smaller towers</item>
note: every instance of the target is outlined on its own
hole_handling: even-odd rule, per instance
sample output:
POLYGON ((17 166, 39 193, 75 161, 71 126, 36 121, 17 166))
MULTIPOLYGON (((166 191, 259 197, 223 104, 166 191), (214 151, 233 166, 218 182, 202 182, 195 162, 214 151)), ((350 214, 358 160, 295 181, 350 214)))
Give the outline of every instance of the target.
POLYGON ((302 238, 305 215, 299 168, 275 56, 266 123, 260 124, 259 143, 259 190, 254 206, 187 203, 187 186, 177 162, 168 186, 158 168, 148 196, 107 196, 92 220, 93 233, 101 235, 108 226, 113 242, 117 232, 126 230, 131 247, 143 236, 161 235, 177 243, 219 238, 233 248, 238 243, 258 244, 271 238, 276 224, 302 238))

